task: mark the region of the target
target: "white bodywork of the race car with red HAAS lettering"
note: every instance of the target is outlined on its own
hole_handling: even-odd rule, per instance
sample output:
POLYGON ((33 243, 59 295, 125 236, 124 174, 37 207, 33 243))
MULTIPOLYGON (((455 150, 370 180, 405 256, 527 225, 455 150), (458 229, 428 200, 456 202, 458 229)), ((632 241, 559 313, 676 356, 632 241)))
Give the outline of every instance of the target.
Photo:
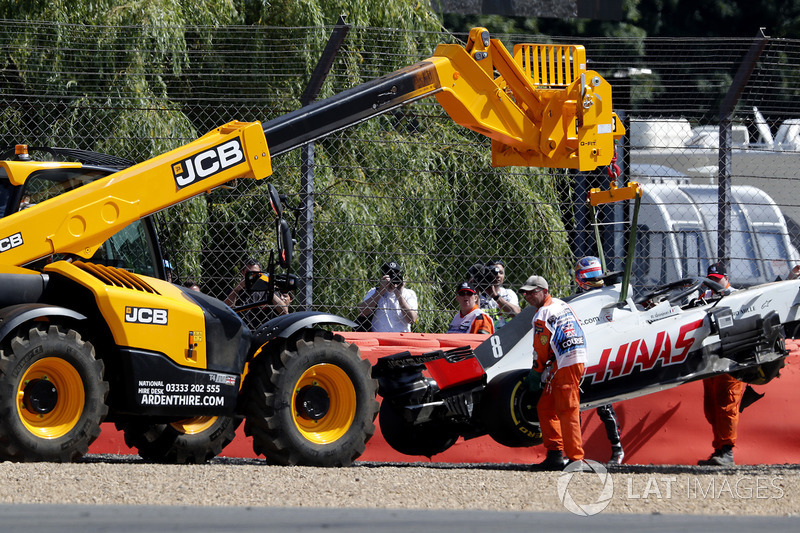
MULTIPOLYGON (((727 307, 734 321, 756 315, 762 317, 775 311, 781 323, 800 319, 800 280, 780 281, 743 289, 701 307, 681 309, 663 301, 651 309, 643 309, 632 299, 618 303, 620 285, 591 291, 570 300, 570 305, 581 320, 587 340, 588 364, 584 384, 604 384, 613 388, 615 380, 633 372, 664 369, 675 365, 691 366, 693 357, 713 354, 718 350, 720 338, 711 333, 709 311, 727 307)), ((532 363, 533 335, 530 317, 533 309, 526 308, 514 320, 528 320, 528 332, 496 364, 486 370, 487 378, 510 370, 529 369, 532 363)), ((513 322, 513 321, 512 321, 513 322)), ((502 330, 500 330, 502 331, 502 330)), ((490 343, 491 344, 491 343, 490 343)), ((495 343, 499 344, 499 343, 495 343)), ((724 372, 736 365, 725 357, 710 356, 710 367, 704 366, 702 375, 724 372)), ((768 362, 768 361, 760 361, 768 362)), ((645 374, 642 374, 645 375, 645 374)), ((586 403, 582 408, 626 398, 642 396, 671 388, 701 376, 681 374, 679 378, 658 382, 644 380, 641 388, 626 390, 602 400, 586 403)))

